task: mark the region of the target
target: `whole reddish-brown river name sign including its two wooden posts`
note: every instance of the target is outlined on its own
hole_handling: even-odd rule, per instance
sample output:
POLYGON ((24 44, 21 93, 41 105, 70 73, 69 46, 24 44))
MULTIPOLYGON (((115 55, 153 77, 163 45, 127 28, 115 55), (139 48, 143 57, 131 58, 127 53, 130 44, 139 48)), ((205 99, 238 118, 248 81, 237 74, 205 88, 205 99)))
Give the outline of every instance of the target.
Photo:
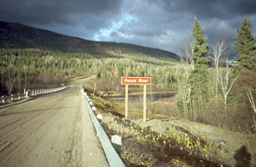
POLYGON ((121 85, 125 85, 125 119, 128 119, 128 85, 143 85, 143 122, 146 122, 147 85, 151 85, 151 77, 121 77, 121 85))

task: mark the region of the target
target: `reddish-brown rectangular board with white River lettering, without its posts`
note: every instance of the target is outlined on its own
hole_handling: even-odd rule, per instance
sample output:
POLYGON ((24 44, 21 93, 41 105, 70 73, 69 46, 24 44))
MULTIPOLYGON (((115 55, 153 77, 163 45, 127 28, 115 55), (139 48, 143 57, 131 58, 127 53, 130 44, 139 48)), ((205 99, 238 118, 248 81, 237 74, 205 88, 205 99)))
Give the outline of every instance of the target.
POLYGON ((121 77, 121 85, 151 85, 151 77, 121 77))

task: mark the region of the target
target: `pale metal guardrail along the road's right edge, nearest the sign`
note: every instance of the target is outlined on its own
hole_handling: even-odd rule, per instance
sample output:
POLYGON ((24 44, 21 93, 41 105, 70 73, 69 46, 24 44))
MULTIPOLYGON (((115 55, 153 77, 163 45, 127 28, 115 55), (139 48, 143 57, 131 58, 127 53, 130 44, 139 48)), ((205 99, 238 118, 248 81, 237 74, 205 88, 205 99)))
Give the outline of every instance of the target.
MULTIPOLYGON (((82 90, 82 92, 83 92, 83 90, 82 90)), ((99 123, 98 119, 96 118, 95 112, 93 112, 91 106, 89 105, 89 97, 88 97, 87 93, 84 93, 84 96, 85 96, 86 105, 88 106, 88 109, 89 109, 90 117, 95 126, 97 136, 98 136, 98 138, 100 138, 102 148, 103 148, 105 155, 108 159, 109 166, 110 167, 125 167, 125 165, 121 161, 121 158, 118 156, 115 149, 111 145, 106 132, 104 132, 104 130, 102 128, 102 125, 99 123)))

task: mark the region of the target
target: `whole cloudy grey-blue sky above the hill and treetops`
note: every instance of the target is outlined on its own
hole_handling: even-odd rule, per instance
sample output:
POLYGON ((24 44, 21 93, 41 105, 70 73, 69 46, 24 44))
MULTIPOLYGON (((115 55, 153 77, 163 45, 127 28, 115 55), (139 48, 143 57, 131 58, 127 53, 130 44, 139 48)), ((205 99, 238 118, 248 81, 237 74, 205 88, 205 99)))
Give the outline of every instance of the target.
POLYGON ((191 38, 194 16, 209 44, 224 35, 231 45, 245 15, 255 35, 255 6, 255 0, 1 0, 0 20, 177 53, 191 38))

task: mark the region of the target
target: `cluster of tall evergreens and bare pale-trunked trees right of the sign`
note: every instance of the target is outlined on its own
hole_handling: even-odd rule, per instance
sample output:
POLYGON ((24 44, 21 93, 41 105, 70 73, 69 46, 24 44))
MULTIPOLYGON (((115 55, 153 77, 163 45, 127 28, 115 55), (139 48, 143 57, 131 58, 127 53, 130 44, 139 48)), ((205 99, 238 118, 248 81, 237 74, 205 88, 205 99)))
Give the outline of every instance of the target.
POLYGON ((245 16, 234 36, 233 51, 238 56, 229 65, 225 39, 209 47, 195 17, 194 39, 181 52, 176 116, 230 129, 249 126, 255 130, 256 39, 252 29, 245 16), (213 67, 208 66, 210 59, 213 67))

